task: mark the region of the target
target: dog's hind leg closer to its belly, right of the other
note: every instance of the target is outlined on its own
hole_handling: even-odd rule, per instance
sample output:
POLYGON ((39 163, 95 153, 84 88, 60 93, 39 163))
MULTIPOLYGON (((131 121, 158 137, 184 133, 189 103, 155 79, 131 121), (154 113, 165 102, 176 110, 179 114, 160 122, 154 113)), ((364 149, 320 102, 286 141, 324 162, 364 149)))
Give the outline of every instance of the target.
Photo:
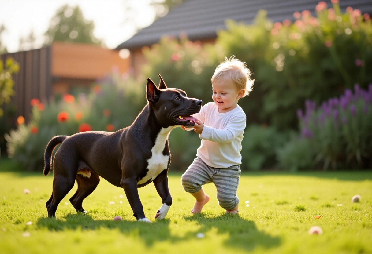
POLYGON ((77 212, 85 212, 82 206, 83 200, 96 189, 99 183, 99 176, 93 172, 90 172, 90 178, 78 174, 76 176, 76 182, 77 190, 76 193, 70 198, 70 202, 77 212))

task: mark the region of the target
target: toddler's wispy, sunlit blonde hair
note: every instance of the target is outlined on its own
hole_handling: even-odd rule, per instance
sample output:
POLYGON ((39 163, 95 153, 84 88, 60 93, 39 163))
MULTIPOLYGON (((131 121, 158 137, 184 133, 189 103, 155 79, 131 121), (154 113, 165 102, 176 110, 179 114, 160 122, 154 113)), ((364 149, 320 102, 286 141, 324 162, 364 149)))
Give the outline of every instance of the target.
POLYGON ((250 79, 251 72, 247 68, 246 63, 230 56, 225 56, 225 61, 220 63, 211 78, 211 82, 221 80, 231 80, 236 85, 238 91, 244 89, 245 93, 242 96, 248 95, 253 88, 254 79, 250 79))

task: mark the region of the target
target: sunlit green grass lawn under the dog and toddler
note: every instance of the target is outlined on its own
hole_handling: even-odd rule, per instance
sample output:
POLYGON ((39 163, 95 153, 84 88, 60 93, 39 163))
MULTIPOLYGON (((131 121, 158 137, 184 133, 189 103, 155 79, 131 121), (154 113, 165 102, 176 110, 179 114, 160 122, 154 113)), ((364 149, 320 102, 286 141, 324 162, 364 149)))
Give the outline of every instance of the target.
POLYGON ((204 186, 211 200, 203 212, 189 214, 194 199, 171 173, 173 205, 162 221, 153 218, 161 206, 154 185, 139 189, 148 224, 135 221, 124 191, 103 179, 83 203, 87 215, 68 200, 75 185, 57 218, 46 218, 52 174, 0 163, 0 253, 372 253, 371 172, 243 173, 238 215, 224 214, 213 184, 204 186), (356 194, 361 202, 351 203, 356 194), (322 235, 308 234, 314 225, 322 235))

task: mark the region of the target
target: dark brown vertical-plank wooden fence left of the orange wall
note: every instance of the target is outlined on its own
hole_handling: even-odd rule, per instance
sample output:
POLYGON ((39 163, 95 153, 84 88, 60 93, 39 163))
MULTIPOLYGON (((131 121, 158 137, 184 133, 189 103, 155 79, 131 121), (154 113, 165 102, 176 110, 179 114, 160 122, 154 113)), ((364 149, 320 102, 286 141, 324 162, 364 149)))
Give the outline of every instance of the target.
POLYGON ((16 115, 23 115, 26 122, 30 119, 32 98, 47 100, 52 95, 51 47, 6 53, 0 56, 5 63, 7 58, 19 63, 19 72, 13 74, 15 96, 12 104, 16 106, 16 115))

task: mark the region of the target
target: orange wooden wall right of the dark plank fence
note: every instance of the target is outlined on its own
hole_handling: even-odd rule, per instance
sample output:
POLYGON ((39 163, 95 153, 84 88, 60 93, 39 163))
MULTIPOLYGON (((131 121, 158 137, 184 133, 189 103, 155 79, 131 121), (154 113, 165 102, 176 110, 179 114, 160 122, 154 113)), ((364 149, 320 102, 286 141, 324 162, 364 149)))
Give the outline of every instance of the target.
POLYGON ((119 52, 96 45, 53 42, 52 76, 74 79, 97 79, 116 66, 119 73, 128 72, 129 59, 119 57, 119 52))

